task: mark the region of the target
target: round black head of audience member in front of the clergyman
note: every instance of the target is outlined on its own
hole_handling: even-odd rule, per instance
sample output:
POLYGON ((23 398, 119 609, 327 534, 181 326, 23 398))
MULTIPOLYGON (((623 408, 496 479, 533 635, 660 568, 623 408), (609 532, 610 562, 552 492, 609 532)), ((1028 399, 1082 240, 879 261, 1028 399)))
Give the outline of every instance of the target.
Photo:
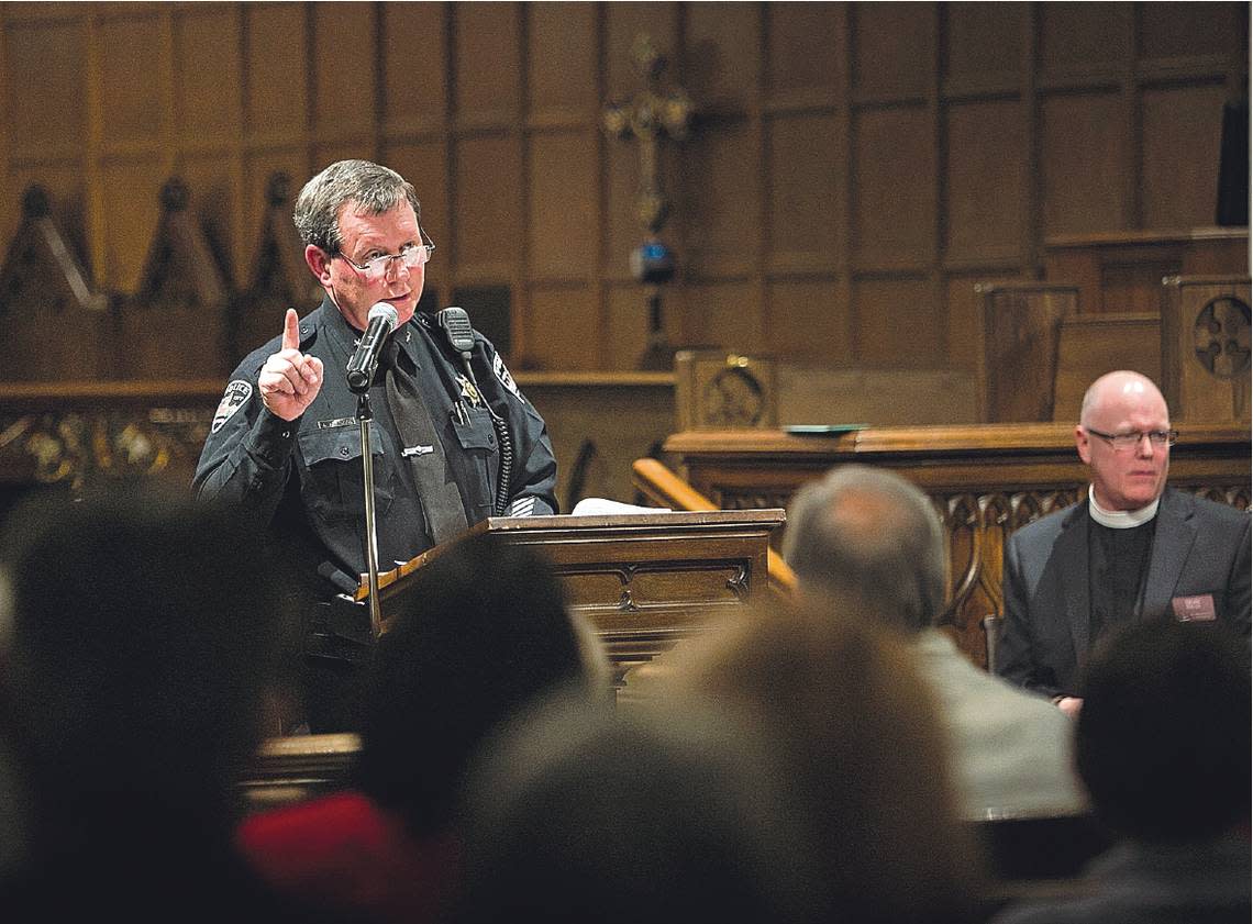
POLYGON ((1086 667, 1079 775, 1116 831, 1202 841, 1249 821, 1249 649, 1222 625, 1128 626, 1086 667))

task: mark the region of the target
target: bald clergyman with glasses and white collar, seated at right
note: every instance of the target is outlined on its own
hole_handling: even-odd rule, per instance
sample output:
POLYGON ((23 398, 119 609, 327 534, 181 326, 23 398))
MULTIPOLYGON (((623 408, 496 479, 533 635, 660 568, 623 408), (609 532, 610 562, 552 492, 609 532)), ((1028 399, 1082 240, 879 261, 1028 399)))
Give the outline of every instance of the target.
POLYGON ((1070 715, 1088 654, 1120 625, 1220 622, 1249 636, 1249 515, 1167 487, 1177 437, 1150 379, 1100 377, 1075 426, 1086 502, 1006 543, 996 670, 1070 715))

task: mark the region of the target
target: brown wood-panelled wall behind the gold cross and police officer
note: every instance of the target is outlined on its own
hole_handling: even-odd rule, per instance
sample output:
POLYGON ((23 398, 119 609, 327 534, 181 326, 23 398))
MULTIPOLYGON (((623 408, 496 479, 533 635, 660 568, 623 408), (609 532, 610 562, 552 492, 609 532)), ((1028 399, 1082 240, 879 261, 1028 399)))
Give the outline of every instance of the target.
POLYGON ((600 128, 649 33, 700 106, 665 153, 675 343, 976 364, 974 283, 1045 238, 1213 223, 1238 3, 0 5, 0 244, 28 184, 133 293, 172 174, 226 278, 274 170, 415 182, 430 284, 505 285, 512 361, 630 368, 637 148, 600 128))

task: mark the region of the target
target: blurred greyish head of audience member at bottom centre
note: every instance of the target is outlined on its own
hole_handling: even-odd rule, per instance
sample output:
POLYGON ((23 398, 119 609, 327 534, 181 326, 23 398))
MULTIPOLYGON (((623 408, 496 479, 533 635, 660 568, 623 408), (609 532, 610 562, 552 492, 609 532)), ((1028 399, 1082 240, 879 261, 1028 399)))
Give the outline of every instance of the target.
POLYGON ((812 845, 751 729, 545 702, 471 774, 457 924, 812 920, 812 845))

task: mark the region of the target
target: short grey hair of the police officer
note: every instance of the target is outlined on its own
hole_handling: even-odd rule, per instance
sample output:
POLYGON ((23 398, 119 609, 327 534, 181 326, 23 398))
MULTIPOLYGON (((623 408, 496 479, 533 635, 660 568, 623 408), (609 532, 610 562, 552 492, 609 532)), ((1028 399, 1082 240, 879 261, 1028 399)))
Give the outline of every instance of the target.
POLYGON ((395 170, 370 160, 337 160, 304 184, 296 199, 292 219, 306 244, 338 253, 340 212, 353 203, 362 212, 381 215, 407 199, 421 220, 417 190, 395 170))

